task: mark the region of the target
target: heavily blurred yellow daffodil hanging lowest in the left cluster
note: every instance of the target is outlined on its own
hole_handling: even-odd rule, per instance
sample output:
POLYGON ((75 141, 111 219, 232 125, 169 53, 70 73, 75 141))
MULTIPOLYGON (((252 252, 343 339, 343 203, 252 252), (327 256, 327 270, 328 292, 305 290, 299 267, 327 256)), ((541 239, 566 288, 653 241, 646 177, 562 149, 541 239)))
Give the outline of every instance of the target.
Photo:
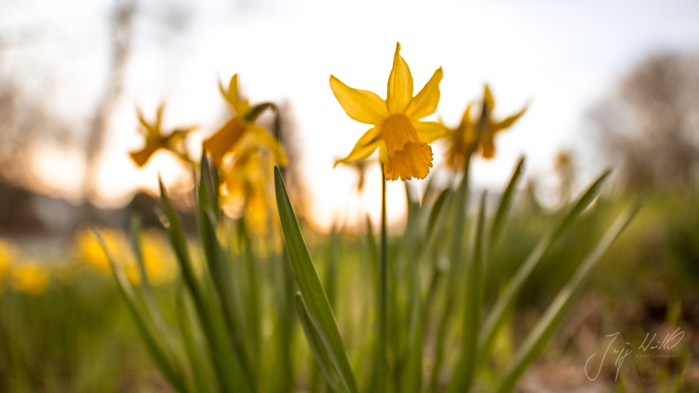
POLYGON ((244 212, 250 228, 264 232, 267 212, 274 210, 274 201, 269 198, 274 195, 273 166, 286 165, 287 156, 279 142, 264 132, 245 135, 232 158, 232 164, 222 168, 224 211, 231 216, 244 212))

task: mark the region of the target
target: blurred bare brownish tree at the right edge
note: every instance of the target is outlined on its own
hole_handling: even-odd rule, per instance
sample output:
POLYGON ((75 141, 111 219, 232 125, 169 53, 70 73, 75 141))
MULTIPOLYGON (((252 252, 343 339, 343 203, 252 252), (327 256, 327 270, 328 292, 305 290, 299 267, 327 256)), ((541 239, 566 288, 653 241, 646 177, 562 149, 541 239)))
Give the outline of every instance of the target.
POLYGON ((627 189, 697 186, 699 59, 651 57, 590 112, 598 149, 627 189))

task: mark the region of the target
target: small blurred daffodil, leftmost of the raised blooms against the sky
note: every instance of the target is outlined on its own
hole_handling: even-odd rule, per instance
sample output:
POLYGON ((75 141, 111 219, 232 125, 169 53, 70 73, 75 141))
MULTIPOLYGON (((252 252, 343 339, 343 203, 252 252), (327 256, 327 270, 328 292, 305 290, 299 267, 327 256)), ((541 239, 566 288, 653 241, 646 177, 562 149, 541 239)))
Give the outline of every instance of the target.
POLYGON ((139 167, 143 167, 158 149, 172 151, 182 158, 183 161, 190 162, 189 156, 185 153, 184 140, 187 138, 187 133, 196 127, 178 128, 170 135, 164 136, 160 129, 163 110, 164 105, 160 105, 155 121, 152 124, 145 121, 143 113, 138 110, 138 122, 140 123, 138 131, 145 136, 145 147, 139 151, 132 151, 130 155, 131 159, 139 167))

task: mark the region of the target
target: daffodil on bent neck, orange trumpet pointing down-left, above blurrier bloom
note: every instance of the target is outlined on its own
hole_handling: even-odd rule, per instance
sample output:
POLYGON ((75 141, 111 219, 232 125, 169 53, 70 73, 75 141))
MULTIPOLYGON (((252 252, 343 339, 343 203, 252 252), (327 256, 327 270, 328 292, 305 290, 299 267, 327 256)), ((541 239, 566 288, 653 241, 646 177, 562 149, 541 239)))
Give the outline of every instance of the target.
POLYGON ((211 135, 210 138, 203 142, 203 147, 211 154, 214 165, 220 168, 224 157, 232 153, 236 145, 243 140, 243 136, 248 133, 254 134, 254 138, 257 138, 259 141, 268 142, 271 149, 275 149, 275 144, 278 145, 278 142, 274 138, 265 136, 269 136, 269 134, 264 127, 254 124, 254 119, 247 119, 251 108, 250 103, 246 99, 241 98, 238 93, 238 74, 231 77, 228 91, 224 89, 221 82, 219 82, 219 90, 235 116, 219 128, 219 131, 216 131, 214 135, 211 135))

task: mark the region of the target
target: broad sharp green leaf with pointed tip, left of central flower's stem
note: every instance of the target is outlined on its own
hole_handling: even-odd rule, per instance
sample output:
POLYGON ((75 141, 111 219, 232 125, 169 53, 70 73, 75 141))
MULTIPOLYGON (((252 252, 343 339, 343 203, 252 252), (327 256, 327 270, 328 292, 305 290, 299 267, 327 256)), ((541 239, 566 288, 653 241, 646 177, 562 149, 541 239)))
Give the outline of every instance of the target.
POLYGON ((289 260, 294 269, 296 283, 298 283, 298 288, 301 290, 303 299, 308 306, 310 319, 317 327, 323 346, 328 351, 331 364, 333 364, 333 368, 338 373, 343 387, 347 390, 347 393, 359 393, 356 377, 354 376, 354 371, 352 371, 352 365, 349 364, 349 358, 345 350, 345 343, 342 336, 340 336, 330 302, 313 266, 308 248, 305 245, 301 228, 299 228, 296 214, 294 214, 294 208, 291 207, 289 195, 287 195, 287 190, 284 187, 282 174, 276 166, 274 169, 274 182, 284 241, 287 244, 289 260))

